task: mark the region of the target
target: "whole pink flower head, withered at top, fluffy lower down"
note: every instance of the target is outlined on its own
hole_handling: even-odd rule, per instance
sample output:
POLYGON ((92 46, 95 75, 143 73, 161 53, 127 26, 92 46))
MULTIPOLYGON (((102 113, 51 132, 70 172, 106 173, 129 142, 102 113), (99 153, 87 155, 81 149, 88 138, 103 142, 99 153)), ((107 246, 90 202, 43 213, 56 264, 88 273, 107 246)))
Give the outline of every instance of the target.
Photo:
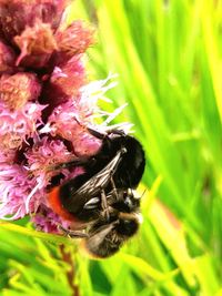
MULTIPOLYGON (((93 30, 62 22, 68 0, 0 0, 0 218, 30 215, 36 226, 67 226, 48 204, 53 166, 92 155, 100 141, 85 126, 98 113, 98 91, 82 61, 93 30), (62 25, 61 25, 62 22, 62 25)), ((59 184, 81 174, 63 169, 59 184)))

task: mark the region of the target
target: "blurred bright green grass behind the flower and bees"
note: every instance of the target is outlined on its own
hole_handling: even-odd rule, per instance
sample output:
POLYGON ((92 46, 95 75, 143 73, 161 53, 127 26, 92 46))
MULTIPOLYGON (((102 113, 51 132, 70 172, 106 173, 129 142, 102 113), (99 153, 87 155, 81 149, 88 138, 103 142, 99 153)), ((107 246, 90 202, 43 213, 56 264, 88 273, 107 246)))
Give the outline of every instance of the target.
POLYGON ((145 149, 144 221, 105 261, 2 224, 0 295, 222 295, 222 1, 75 0, 69 18, 97 28, 90 80, 119 74, 102 108, 127 102, 115 122, 145 149))

